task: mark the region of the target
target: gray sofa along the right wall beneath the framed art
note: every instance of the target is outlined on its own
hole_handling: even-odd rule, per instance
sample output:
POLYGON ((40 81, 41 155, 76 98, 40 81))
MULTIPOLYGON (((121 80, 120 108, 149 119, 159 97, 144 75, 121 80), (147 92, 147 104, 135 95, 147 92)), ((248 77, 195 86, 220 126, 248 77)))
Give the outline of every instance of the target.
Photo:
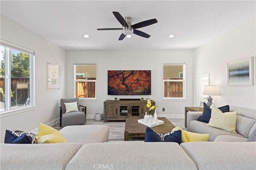
POLYGON ((246 109, 242 107, 230 106, 230 112, 237 111, 236 119, 236 132, 232 133, 219 128, 206 126, 207 123, 197 121, 202 116, 202 112, 188 112, 187 113, 187 130, 195 133, 210 134, 208 141, 214 141, 217 136, 221 136, 220 141, 230 141, 229 136, 236 136, 234 140, 246 141, 247 138, 252 135, 252 132, 256 129, 256 111, 252 109, 246 109), (244 138, 241 139, 241 138, 244 138))

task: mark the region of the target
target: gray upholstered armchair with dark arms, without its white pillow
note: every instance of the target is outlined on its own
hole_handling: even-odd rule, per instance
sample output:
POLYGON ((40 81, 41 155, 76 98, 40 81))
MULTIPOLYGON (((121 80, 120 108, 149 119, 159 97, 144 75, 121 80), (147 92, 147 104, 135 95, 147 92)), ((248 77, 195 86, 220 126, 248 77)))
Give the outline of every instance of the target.
POLYGON ((83 125, 86 123, 86 107, 79 105, 78 98, 60 99, 60 127, 83 125), (77 102, 77 107, 84 107, 84 112, 69 112, 66 113, 66 107, 64 103, 77 102))

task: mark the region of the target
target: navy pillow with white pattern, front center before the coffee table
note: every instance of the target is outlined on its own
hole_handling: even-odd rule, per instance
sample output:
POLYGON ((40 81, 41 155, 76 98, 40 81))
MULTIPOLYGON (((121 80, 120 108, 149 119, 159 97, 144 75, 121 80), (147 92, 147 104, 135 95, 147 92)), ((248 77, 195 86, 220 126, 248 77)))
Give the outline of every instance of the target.
POLYGON ((145 132, 145 142, 176 142, 181 144, 181 130, 161 134, 147 127, 145 132))

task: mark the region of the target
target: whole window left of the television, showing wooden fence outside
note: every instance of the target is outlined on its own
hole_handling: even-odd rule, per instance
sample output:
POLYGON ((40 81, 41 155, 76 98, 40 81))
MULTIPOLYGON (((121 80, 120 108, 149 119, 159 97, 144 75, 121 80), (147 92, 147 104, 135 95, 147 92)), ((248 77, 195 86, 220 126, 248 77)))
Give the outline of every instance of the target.
POLYGON ((74 97, 96 99, 96 63, 75 63, 74 69, 74 97))

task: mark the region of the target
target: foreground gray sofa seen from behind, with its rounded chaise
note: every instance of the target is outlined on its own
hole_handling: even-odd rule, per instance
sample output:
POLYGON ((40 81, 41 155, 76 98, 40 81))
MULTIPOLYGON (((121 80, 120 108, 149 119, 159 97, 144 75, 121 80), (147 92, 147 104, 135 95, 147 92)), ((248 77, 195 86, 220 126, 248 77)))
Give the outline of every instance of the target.
POLYGON ((220 135, 214 142, 178 145, 173 142, 108 142, 106 126, 70 126, 60 132, 68 142, 74 143, 1 144, 1 170, 256 169, 256 142, 245 142, 245 136, 220 135), (226 142, 227 138, 232 142, 226 142))

